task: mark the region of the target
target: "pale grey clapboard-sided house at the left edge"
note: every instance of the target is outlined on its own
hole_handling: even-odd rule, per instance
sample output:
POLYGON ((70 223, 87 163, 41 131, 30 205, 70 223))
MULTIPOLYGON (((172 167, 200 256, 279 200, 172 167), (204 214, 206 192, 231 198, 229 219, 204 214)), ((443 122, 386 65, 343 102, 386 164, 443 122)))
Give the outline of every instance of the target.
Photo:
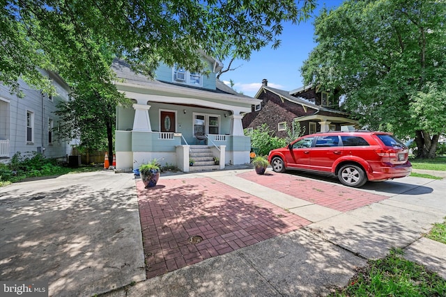
POLYGON ((54 113, 61 101, 68 100, 70 88, 53 72, 43 71, 52 80, 57 95, 49 96, 33 90, 20 81, 24 97, 10 94, 7 86, 0 84, 0 162, 9 163, 16 153, 40 152, 47 158, 66 159, 70 143, 57 136, 61 122, 54 113))

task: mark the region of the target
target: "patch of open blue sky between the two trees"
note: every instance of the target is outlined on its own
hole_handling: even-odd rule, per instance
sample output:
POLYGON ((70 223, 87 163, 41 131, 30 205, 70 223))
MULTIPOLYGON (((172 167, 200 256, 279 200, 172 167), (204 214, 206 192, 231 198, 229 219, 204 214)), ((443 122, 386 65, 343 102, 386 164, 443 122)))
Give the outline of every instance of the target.
MULTIPOLYGON (((327 8, 336 8, 341 3, 342 0, 317 0, 313 15, 318 15, 318 10, 324 5, 327 8)), ((229 79, 232 79, 235 90, 252 97, 259 90, 262 79, 268 79, 268 86, 272 88, 300 88, 303 82, 299 69, 316 45, 313 21, 312 17, 300 24, 284 24, 284 31, 279 37, 282 45, 278 49, 268 46, 261 51, 254 51, 249 61, 234 61, 231 67, 241 66, 222 74, 220 80, 229 84, 229 79)), ((226 66, 229 61, 223 63, 226 66)))

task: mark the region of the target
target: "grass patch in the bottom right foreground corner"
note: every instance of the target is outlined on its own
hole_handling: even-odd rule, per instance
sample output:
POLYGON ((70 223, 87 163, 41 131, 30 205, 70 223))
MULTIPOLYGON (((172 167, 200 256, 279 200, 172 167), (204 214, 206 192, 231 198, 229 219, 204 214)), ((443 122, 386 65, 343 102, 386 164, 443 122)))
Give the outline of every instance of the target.
POLYGON ((446 280, 402 257, 399 249, 369 260, 347 287, 330 296, 446 296, 446 280))

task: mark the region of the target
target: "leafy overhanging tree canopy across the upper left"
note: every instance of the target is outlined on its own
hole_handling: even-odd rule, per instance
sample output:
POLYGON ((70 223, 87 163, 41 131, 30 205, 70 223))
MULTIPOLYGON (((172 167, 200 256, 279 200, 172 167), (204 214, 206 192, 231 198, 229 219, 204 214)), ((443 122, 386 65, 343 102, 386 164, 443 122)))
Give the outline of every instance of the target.
POLYGON ((109 99, 123 99, 109 67, 114 56, 148 76, 160 61, 201 72, 202 54, 249 59, 252 51, 270 43, 278 47, 282 22, 305 19, 314 2, 2 1, 0 81, 14 92, 19 91, 19 77, 35 88, 50 90, 50 81, 36 67, 54 70, 75 90, 86 90, 73 99, 104 100, 102 106, 112 111, 109 99))

